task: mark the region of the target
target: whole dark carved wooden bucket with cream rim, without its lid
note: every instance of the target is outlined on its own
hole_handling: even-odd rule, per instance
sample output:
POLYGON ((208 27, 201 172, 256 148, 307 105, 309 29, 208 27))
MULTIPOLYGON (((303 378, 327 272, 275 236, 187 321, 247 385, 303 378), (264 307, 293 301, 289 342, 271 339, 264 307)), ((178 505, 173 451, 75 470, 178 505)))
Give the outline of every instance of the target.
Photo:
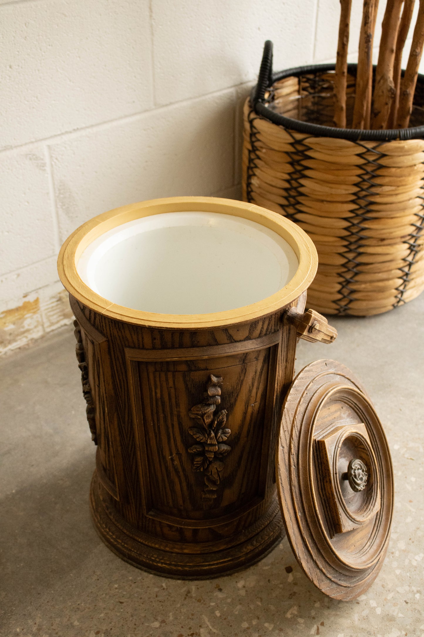
MULTIPOLYGON (((205 224, 202 227, 201 233, 205 224)), ((172 245, 172 236, 168 239, 172 245)), ((189 238, 197 240, 196 233, 194 239, 189 238)), ((153 252, 155 241, 147 241, 153 252)), ((206 243, 196 258, 203 252, 207 257, 211 247, 206 243)), ((167 245, 165 256, 172 259, 173 250, 167 245)), ((184 245, 179 248, 186 254, 184 245)), ((137 249, 135 246, 135 252, 137 249)), ((246 255, 242 252, 237 253, 237 261, 246 269, 250 266, 247 261, 243 265, 246 255)), ((160 248, 154 254, 161 259, 160 248)), ((175 257, 177 261, 181 254, 175 257)), ((259 259, 262 267, 261 254, 259 259)), ((140 275, 147 271, 146 264, 141 266, 140 275)), ((257 561, 281 538, 275 448, 278 414, 294 375, 297 338, 333 338, 324 317, 304 313, 306 289, 316 269, 313 243, 295 224, 259 206, 209 197, 173 197, 125 206, 95 217, 65 242, 58 270, 76 318, 77 357, 88 421, 97 443, 92 517, 102 540, 121 558, 167 576, 202 578, 257 561), (119 252, 119 245, 108 253, 101 247, 102 238, 114 236, 124 224, 131 227, 146 217, 149 223, 156 223, 165 218, 162 215, 168 213, 169 218, 169 213, 181 211, 183 216, 207 213, 212 218, 207 227, 213 226, 230 243, 233 229, 221 228, 220 220, 250 224, 252 232, 261 226, 264 241, 268 241, 264 249, 269 251, 275 233, 282 240, 280 247, 287 243, 288 251, 296 255, 296 268, 287 266, 283 287, 272 294, 267 289, 268 296, 236 309, 225 309, 229 301, 224 299, 222 305, 219 294, 212 294, 212 301, 205 294, 205 290, 213 292, 216 276, 223 297, 227 294, 231 300, 234 296, 235 304, 249 300, 250 286, 243 297, 237 291, 243 285, 231 282, 231 255, 227 264, 225 259, 207 262, 206 271, 200 274, 196 263, 189 264, 195 268, 197 300, 200 304, 210 301, 207 309, 217 311, 149 311, 156 300, 161 302, 160 289, 157 298, 153 290, 149 301, 143 300, 148 297, 144 290, 147 296, 142 296, 141 303, 150 303, 146 310, 116 303, 114 299, 128 298, 128 290, 120 289, 125 282, 115 289, 107 286, 109 280, 123 276, 125 259, 132 259, 133 247, 123 243, 125 249, 119 254, 113 253, 119 252), (103 257, 95 266, 96 282, 95 267, 91 275, 87 271, 95 253, 92 246, 99 245, 103 257), (118 255, 116 267, 111 264, 113 255, 118 255), (81 270, 84 261, 88 266, 81 270), (90 276, 94 276, 93 284, 90 276), (203 291, 196 276, 203 281, 203 291), (114 298, 107 300, 102 294, 114 298)), ((193 289, 190 277, 181 280, 174 269, 170 278, 171 274, 176 278, 165 290, 165 301, 172 297, 178 306, 179 296, 193 296, 193 289), (172 296, 175 285, 181 295, 172 296)), ((254 274, 248 274, 254 287, 254 274)), ((134 273, 128 275, 133 277, 134 273)), ((137 285, 137 276, 133 285, 137 285)), ((161 307, 166 309, 166 303, 161 307)))

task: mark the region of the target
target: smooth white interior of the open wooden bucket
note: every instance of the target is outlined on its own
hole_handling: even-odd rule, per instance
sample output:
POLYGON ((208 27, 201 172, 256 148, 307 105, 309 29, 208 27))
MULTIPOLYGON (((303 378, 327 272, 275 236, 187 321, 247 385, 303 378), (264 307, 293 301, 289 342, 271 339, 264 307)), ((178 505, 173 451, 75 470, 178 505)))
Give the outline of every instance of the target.
POLYGON ((257 303, 287 285, 298 266, 289 243, 264 225, 181 211, 114 227, 88 245, 77 270, 111 303, 188 315, 257 303))

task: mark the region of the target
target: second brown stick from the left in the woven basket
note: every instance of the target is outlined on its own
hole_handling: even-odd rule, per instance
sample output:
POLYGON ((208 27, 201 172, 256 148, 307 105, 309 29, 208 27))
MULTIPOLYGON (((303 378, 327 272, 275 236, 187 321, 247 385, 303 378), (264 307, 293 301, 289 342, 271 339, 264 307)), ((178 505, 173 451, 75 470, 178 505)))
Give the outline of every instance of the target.
POLYGON ((373 39, 378 0, 364 0, 359 36, 358 69, 352 128, 369 128, 373 78, 373 39))

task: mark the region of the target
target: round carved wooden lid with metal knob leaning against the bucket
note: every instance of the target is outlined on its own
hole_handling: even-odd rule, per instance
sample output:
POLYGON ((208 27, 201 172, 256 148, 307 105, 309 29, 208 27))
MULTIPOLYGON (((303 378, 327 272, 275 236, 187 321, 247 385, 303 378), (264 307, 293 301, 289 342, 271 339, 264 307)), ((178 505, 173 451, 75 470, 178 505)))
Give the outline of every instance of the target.
POLYGON ((304 573, 332 598, 357 598, 385 559, 393 473, 373 405, 339 362, 313 362, 292 382, 276 466, 287 537, 304 573))

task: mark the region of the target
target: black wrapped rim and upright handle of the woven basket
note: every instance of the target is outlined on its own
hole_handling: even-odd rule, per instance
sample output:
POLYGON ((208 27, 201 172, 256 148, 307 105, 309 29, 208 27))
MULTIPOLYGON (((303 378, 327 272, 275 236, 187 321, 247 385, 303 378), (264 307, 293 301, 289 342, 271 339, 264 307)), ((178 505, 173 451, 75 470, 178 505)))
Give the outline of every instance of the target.
MULTIPOLYGON (((417 140, 424 138, 424 125, 413 126, 411 128, 386 129, 386 130, 360 130, 353 128, 336 128, 323 126, 321 124, 309 124, 292 117, 279 115, 271 110, 264 103, 265 92, 270 89, 273 83, 290 76, 300 76, 305 73, 317 73, 319 71, 334 71, 336 64, 310 64, 308 66, 296 66, 285 71, 272 70, 272 50, 273 43, 267 40, 264 45, 264 53, 259 70, 257 85, 253 87, 250 94, 252 108, 257 115, 264 117, 273 124, 284 126, 292 131, 303 132, 317 137, 333 137, 341 140, 351 141, 390 141, 390 140, 417 140)), ((348 73, 356 75, 357 64, 348 64, 348 73)), ((403 71, 402 71, 403 75, 403 71)), ((424 75, 418 74, 417 83, 424 85, 424 75)))

